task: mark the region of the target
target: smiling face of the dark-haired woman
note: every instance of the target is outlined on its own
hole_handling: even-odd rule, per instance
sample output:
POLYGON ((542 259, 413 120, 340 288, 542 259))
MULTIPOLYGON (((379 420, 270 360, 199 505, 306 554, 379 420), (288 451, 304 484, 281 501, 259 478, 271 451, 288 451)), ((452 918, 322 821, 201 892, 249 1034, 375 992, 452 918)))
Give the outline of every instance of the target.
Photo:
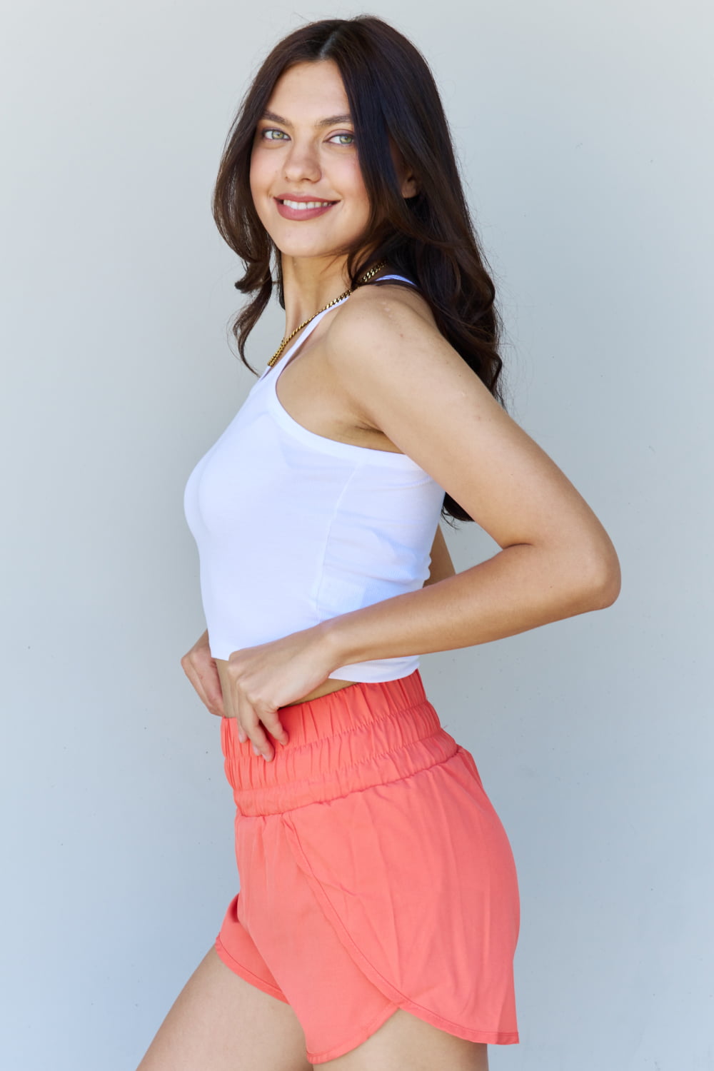
POLYGON ((331 256, 364 231, 369 200, 349 110, 337 64, 318 60, 282 75, 258 122, 250 192, 284 256, 331 256), (291 208, 286 198, 320 206, 291 208))

